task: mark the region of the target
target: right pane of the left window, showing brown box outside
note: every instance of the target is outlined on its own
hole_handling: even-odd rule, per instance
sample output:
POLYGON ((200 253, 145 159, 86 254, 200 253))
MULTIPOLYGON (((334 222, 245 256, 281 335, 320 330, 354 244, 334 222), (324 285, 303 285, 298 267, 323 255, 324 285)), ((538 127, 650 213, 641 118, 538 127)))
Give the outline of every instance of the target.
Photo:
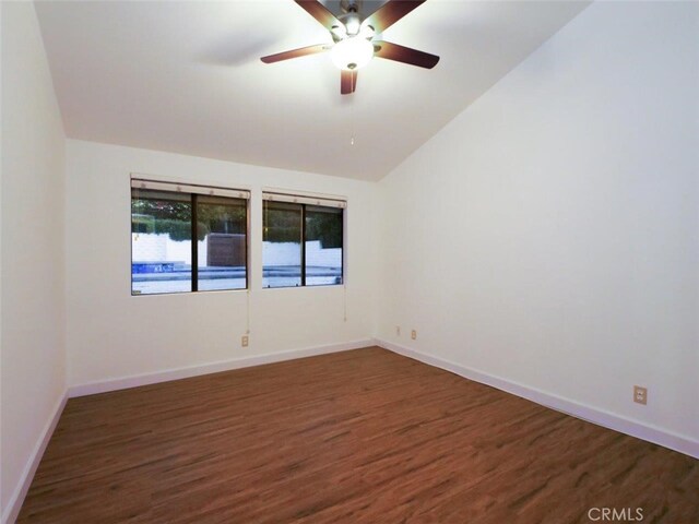
POLYGON ((247 202, 197 196, 198 290, 247 287, 247 202))

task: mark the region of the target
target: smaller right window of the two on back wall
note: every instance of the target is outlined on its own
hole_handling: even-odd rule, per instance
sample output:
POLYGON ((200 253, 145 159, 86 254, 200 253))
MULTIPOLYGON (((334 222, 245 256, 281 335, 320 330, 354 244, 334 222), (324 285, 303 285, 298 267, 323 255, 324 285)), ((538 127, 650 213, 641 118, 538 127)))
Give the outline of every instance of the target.
POLYGON ((339 285, 346 203, 265 192, 262 287, 339 285))

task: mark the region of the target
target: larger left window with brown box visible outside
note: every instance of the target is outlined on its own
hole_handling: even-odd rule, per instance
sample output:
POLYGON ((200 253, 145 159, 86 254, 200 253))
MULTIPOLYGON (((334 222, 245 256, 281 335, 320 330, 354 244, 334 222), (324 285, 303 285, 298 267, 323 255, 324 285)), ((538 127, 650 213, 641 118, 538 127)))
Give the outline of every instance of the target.
POLYGON ((131 181, 131 294, 246 289, 247 191, 131 181))

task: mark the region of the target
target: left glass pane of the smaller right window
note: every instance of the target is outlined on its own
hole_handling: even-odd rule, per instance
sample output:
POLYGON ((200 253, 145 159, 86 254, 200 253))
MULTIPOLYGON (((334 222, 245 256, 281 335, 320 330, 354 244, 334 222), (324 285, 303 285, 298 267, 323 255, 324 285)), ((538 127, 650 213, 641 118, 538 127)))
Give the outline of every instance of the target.
POLYGON ((301 285, 300 204, 263 202, 262 287, 301 285))

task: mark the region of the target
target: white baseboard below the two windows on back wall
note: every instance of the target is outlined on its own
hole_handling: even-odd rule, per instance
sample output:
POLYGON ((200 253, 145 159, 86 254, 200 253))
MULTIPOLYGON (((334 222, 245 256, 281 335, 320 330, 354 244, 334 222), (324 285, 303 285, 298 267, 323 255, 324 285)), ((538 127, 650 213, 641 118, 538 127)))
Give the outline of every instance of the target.
POLYGON ((234 358, 230 360, 221 360, 217 362, 209 362, 186 368, 166 369, 154 373, 135 374, 131 377, 121 377, 118 379, 109 379, 86 384, 72 385, 68 389, 68 396, 94 395, 96 393, 106 393, 108 391, 125 390, 127 388, 135 388, 139 385, 155 384, 158 382, 167 382, 169 380, 187 379, 190 377, 199 377, 201 374, 217 373, 220 371, 229 371, 232 369, 249 368, 251 366, 260 366, 263 364, 281 362, 284 360, 293 360, 295 358, 312 357, 316 355, 324 355, 328 353, 346 352, 350 349, 359 349, 374 345, 374 340, 367 338, 363 341, 346 342, 342 344, 328 344, 323 346, 306 347, 303 349, 292 349, 286 352, 269 353, 265 355, 256 355, 252 357, 234 358))

